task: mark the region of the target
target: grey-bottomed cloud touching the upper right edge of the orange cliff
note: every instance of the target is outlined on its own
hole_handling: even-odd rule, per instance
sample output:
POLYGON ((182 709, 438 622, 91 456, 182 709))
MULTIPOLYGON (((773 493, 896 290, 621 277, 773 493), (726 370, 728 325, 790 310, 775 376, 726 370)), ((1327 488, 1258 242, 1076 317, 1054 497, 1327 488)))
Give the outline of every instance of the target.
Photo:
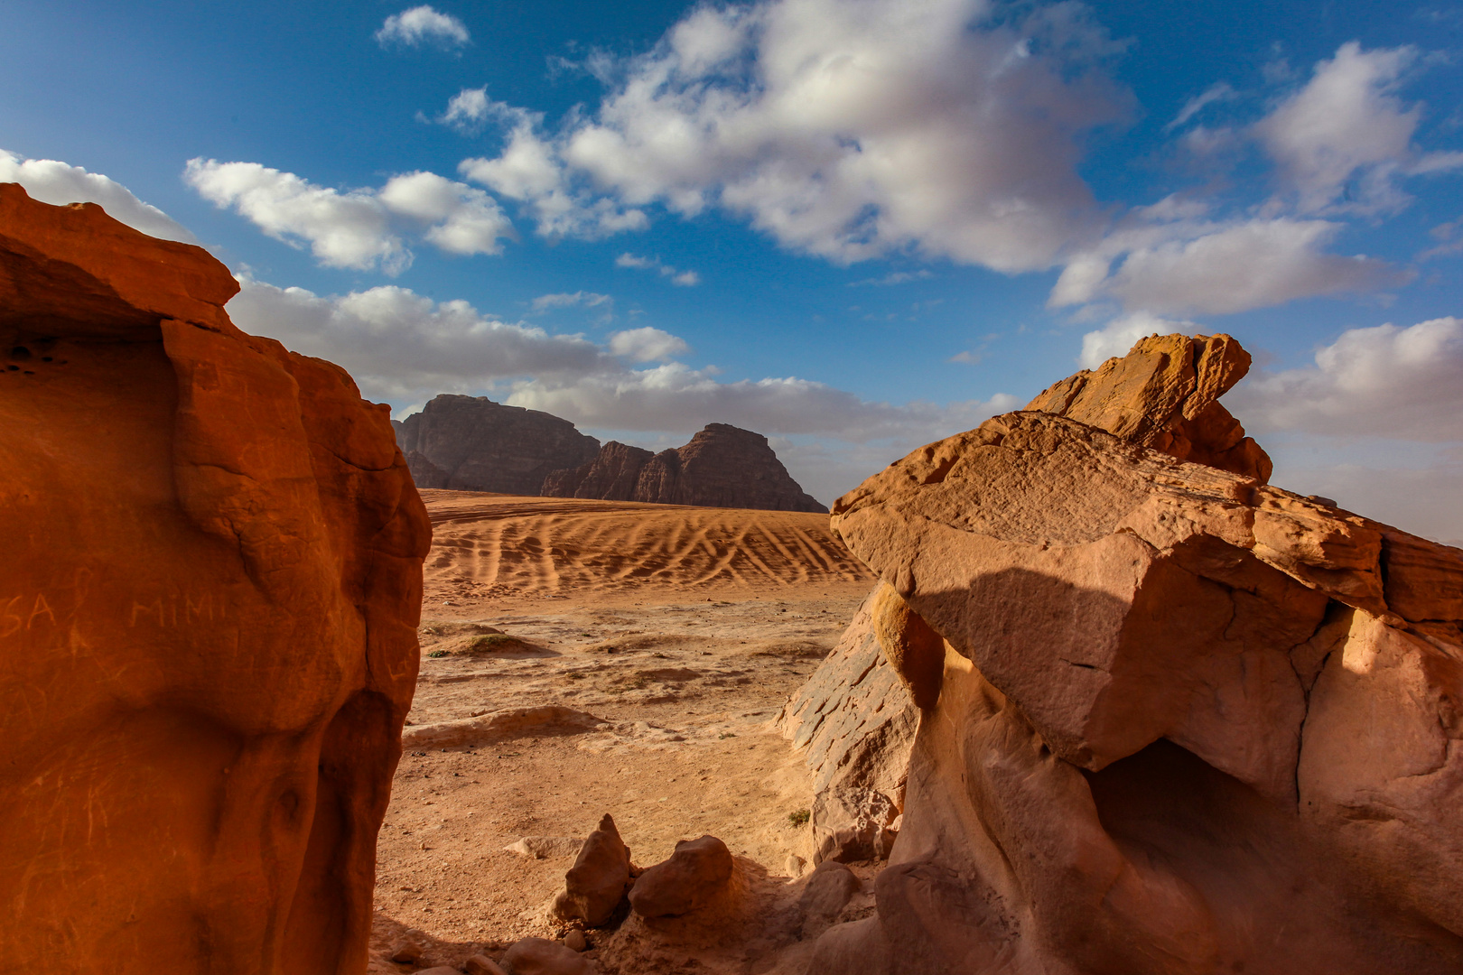
POLYGON ((413 402, 521 376, 619 368, 594 342, 483 314, 467 301, 433 303, 392 285, 319 297, 240 278, 228 303, 238 327, 344 365, 375 399, 413 402))

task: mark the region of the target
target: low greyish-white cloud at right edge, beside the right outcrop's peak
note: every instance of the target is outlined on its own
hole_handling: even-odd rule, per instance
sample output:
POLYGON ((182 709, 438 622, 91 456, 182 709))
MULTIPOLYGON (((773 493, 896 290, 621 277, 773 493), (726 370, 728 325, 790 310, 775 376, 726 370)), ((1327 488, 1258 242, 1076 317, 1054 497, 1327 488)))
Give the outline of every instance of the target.
POLYGON ((1232 396, 1257 430, 1463 441, 1463 320, 1350 329, 1314 365, 1252 376, 1232 396))

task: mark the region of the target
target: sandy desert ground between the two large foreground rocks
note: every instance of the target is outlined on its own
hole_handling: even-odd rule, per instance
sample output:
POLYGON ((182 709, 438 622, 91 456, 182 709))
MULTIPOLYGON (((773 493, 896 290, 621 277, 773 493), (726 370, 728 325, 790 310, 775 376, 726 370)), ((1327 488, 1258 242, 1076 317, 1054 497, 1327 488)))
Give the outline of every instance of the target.
POLYGON ((604 813, 642 867, 711 833, 771 881, 796 877, 789 857, 811 854, 797 816, 809 781, 771 721, 872 585, 827 516, 423 498, 435 541, 408 741, 424 725, 543 705, 598 724, 408 747, 380 833, 373 947, 402 928, 430 944, 376 971, 556 936, 547 903, 604 813), (525 838, 547 855, 503 849, 525 838))

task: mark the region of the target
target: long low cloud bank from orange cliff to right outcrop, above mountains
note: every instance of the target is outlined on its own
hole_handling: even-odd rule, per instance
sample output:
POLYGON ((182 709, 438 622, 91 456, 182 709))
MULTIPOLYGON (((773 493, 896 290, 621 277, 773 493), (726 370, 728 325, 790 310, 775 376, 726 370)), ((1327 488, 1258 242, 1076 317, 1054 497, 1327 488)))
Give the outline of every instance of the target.
POLYGON ((876 444, 875 453, 888 455, 884 463, 1020 406, 1004 393, 985 402, 891 405, 796 377, 724 383, 715 367, 696 370, 677 361, 626 368, 622 358, 669 360, 689 348, 650 327, 616 332, 601 346, 391 285, 320 297, 249 276, 240 284, 228 313, 241 329, 339 363, 363 395, 395 403, 426 402, 440 392, 486 392, 582 428, 686 434, 708 422, 732 422, 770 436, 831 439, 843 453, 876 444))

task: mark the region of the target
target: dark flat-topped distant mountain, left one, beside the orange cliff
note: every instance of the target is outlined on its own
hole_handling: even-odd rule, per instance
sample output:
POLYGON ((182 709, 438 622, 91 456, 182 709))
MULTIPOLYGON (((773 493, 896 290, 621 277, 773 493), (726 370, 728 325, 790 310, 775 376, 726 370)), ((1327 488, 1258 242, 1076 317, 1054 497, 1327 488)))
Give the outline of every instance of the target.
POLYGON ((401 449, 417 487, 538 494, 550 471, 590 462, 600 441, 552 414, 443 393, 401 421, 401 449))

